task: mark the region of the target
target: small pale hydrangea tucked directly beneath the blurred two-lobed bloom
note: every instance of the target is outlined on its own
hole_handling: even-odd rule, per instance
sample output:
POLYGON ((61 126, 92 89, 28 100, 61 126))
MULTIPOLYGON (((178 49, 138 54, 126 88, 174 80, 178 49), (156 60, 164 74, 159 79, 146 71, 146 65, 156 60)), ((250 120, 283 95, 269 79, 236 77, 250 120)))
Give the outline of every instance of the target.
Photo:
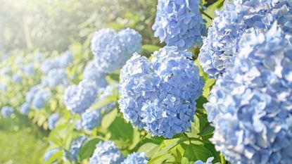
POLYGON ((83 79, 96 82, 97 87, 106 87, 106 73, 101 72, 94 61, 90 61, 84 68, 83 79))

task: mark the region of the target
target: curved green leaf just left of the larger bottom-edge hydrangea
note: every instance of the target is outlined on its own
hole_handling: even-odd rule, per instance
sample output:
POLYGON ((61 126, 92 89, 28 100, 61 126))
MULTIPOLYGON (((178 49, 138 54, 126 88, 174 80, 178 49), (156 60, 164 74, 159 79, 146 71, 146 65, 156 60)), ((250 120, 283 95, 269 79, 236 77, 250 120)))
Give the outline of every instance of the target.
POLYGON ((97 143, 99 143, 99 141, 101 141, 101 139, 98 138, 90 139, 89 141, 87 141, 79 151, 78 156, 80 160, 91 157, 94 153, 95 146, 97 143))

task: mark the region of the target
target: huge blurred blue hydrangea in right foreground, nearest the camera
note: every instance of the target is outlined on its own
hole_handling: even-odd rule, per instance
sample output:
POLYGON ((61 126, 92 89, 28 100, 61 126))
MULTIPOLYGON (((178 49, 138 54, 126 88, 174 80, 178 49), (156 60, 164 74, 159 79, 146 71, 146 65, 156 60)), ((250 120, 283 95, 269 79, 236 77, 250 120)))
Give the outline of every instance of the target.
POLYGON ((205 104, 212 142, 231 163, 291 163, 292 36, 248 30, 205 104))

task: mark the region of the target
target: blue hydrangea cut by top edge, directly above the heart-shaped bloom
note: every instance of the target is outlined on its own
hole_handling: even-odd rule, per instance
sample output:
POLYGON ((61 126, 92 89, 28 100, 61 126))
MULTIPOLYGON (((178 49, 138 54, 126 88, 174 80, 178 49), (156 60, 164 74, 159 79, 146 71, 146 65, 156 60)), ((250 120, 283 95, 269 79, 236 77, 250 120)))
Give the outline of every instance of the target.
POLYGON ((158 0, 154 36, 182 50, 201 46, 206 29, 199 5, 199 0, 158 0))

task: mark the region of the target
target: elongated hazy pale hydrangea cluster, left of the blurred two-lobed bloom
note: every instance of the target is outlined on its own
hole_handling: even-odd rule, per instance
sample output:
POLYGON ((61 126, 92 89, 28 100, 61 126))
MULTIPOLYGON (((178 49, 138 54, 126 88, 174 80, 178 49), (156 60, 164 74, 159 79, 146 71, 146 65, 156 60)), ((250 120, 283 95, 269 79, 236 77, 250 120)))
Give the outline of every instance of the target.
POLYGON ((42 63, 41 70, 44 74, 48 74, 50 70, 66 68, 72 62, 72 58, 70 51, 66 51, 63 56, 46 59, 46 61, 42 63))

